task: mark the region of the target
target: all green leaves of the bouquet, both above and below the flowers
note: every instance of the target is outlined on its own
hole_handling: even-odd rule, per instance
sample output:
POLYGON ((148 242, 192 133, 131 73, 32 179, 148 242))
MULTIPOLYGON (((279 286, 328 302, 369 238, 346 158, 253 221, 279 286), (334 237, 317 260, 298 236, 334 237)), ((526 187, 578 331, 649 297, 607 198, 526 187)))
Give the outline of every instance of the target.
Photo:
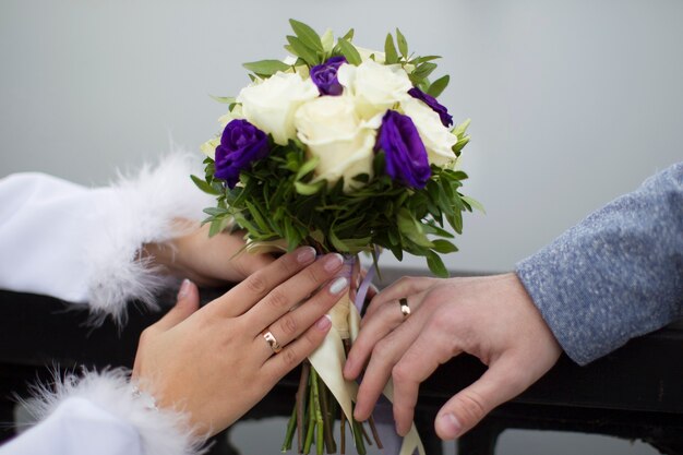
MULTIPOLYGON (((343 57, 352 65, 362 62, 360 51, 352 44, 354 29, 334 43, 331 32, 320 36, 301 22, 290 20, 290 24, 295 35, 287 36, 285 49, 296 60, 245 63, 252 81, 301 69, 308 73, 335 57, 343 57)), ((378 56, 370 53, 367 58, 375 60, 378 56)), ((409 53, 406 38, 398 29, 396 40, 392 34, 386 36, 383 64, 399 64, 412 86, 434 98, 448 84, 447 75, 430 82, 429 76, 436 69, 433 61, 439 58, 409 53)), ((215 99, 227 104, 230 112, 241 107, 239 97, 215 99)), ((217 197, 217 206, 205 209, 208 215, 205 223, 211 224, 212 235, 235 220, 232 228, 245 229, 251 241, 286 239, 289 250, 310 244, 320 252, 356 254, 364 251, 373 256, 375 247, 380 247, 391 250, 398 260, 404 252, 424 256, 434 275, 447 276, 440 254, 457 251, 457 248, 445 225, 462 234, 463 213, 481 208, 462 193, 467 175, 453 166, 469 142, 468 125, 469 120, 450 130, 456 137, 451 148, 452 165, 430 164, 431 177, 422 188, 406 185, 390 177, 386 152, 379 148, 372 159, 372 177, 369 172, 354 176, 349 191, 344 177, 335 182, 316 178, 320 156, 312 156, 298 137, 284 142, 274 141, 274 135, 268 135, 267 156, 241 169, 239 182, 232 188, 216 177, 216 161, 211 156, 204 161, 204 179, 195 176, 192 179, 200 189, 217 197)), ((218 139, 209 144, 215 147, 218 139)))

